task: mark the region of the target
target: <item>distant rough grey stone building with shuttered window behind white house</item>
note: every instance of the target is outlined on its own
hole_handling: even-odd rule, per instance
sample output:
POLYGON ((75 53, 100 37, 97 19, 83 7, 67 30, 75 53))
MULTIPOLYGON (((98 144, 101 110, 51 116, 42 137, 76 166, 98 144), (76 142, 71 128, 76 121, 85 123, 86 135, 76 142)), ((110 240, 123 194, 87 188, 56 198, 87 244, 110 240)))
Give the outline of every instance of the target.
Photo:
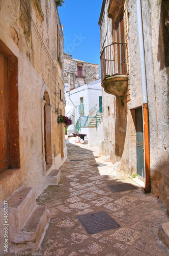
POLYGON ((64 53, 64 79, 69 91, 99 79, 99 65, 73 59, 64 53))

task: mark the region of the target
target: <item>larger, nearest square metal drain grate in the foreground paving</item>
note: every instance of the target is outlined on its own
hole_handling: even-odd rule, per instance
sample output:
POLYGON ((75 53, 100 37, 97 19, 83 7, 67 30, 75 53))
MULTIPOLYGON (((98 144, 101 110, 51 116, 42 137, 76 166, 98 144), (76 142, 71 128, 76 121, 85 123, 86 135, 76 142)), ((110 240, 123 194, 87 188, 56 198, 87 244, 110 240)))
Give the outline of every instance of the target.
POLYGON ((77 218, 89 234, 120 227, 105 211, 95 212, 94 214, 77 215, 77 218))

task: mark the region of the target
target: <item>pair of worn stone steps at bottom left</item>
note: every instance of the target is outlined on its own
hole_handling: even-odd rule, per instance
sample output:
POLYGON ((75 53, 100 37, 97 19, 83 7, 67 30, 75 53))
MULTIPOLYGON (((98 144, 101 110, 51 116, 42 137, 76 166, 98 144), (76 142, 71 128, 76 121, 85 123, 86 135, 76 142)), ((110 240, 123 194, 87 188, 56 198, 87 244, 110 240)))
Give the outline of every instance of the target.
MULTIPOLYGON (((43 238, 49 211, 46 206, 36 205, 32 187, 21 188, 7 202, 9 251, 17 255, 30 255, 38 249, 43 238)), ((2 215, 4 205, 0 211, 2 215)))

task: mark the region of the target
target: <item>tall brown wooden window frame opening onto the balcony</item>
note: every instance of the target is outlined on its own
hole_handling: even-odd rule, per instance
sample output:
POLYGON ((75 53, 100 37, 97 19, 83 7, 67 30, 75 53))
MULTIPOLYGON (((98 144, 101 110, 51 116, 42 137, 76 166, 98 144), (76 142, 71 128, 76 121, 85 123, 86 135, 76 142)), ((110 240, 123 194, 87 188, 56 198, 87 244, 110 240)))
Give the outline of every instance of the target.
POLYGON ((116 22, 118 74, 126 75, 126 54, 125 54, 125 32, 124 32, 124 10, 121 11, 116 22))

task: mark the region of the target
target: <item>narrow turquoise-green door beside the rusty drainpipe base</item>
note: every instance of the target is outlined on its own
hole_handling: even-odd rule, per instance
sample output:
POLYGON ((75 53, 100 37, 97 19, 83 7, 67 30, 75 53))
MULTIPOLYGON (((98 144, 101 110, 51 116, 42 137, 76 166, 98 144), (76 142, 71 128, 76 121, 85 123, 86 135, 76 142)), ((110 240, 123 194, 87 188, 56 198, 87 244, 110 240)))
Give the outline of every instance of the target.
POLYGON ((136 154, 137 154, 137 176, 145 179, 144 164, 144 133, 142 108, 135 110, 136 119, 136 154))

